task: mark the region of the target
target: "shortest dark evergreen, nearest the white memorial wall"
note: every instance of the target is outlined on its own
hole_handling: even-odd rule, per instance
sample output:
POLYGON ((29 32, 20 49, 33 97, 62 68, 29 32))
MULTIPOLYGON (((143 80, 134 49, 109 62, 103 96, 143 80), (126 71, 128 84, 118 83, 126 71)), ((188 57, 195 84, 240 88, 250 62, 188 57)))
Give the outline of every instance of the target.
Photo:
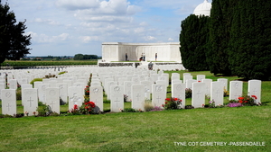
POLYGON ((190 71, 209 70, 205 51, 209 39, 209 17, 191 14, 182 21, 180 34, 182 64, 190 71))

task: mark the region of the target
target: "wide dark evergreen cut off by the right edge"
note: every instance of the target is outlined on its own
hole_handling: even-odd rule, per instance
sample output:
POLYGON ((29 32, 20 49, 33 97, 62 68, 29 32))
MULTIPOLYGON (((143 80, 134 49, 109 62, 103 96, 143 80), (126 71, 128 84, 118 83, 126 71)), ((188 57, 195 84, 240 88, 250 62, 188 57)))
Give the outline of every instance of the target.
POLYGON ((232 71, 245 79, 271 80, 271 3, 263 0, 231 3, 236 3, 229 46, 232 71))

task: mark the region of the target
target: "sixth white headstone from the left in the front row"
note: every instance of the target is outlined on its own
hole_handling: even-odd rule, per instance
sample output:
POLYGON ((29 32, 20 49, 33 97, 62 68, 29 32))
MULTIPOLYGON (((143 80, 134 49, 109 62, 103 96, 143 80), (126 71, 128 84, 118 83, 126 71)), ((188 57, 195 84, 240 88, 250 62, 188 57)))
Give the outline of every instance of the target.
POLYGON ((110 109, 111 112, 121 112, 124 109, 124 86, 110 86, 110 109))

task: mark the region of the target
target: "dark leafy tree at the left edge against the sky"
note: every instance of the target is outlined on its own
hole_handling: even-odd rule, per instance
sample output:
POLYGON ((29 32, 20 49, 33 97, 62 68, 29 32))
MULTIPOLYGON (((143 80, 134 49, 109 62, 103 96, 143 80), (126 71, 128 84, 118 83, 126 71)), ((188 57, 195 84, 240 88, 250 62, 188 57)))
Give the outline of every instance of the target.
POLYGON ((0 63, 5 59, 18 60, 30 54, 27 46, 31 45, 31 35, 25 35, 24 22, 16 22, 14 12, 8 4, 0 0, 0 63))

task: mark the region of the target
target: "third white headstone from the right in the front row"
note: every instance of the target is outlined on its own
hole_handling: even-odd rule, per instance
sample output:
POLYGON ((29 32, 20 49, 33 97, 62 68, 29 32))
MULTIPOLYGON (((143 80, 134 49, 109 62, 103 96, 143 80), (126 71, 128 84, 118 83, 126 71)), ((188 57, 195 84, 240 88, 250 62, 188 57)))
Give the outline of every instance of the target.
POLYGON ((215 105, 223 105, 224 103, 224 92, 222 82, 212 82, 210 86, 210 101, 214 101, 215 105))

